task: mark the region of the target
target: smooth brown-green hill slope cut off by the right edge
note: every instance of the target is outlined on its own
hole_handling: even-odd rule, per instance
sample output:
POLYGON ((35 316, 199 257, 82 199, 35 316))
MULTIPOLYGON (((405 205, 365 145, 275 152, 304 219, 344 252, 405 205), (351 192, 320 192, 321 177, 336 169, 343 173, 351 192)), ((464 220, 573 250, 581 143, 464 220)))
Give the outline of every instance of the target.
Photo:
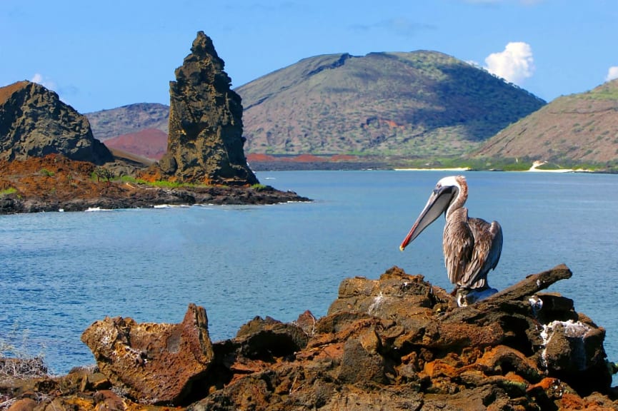
POLYGON ((618 162, 618 79, 556 98, 500 131, 474 157, 618 162))

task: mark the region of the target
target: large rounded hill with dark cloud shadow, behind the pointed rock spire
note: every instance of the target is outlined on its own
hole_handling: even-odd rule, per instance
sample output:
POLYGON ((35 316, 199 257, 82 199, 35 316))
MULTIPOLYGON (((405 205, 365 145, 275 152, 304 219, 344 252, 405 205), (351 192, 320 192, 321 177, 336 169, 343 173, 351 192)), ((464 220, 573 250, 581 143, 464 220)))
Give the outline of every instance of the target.
POLYGON ((249 153, 457 155, 544 105, 434 51, 316 56, 236 91, 249 153))

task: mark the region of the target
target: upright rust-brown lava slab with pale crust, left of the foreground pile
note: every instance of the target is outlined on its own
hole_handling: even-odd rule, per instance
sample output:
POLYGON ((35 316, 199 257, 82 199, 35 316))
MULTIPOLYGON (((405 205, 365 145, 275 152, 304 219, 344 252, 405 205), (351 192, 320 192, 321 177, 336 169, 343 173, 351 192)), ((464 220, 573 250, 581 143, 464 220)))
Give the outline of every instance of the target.
POLYGON ((106 317, 81 340, 112 385, 147 404, 182 402, 213 357, 206 310, 194 304, 179 324, 106 317))

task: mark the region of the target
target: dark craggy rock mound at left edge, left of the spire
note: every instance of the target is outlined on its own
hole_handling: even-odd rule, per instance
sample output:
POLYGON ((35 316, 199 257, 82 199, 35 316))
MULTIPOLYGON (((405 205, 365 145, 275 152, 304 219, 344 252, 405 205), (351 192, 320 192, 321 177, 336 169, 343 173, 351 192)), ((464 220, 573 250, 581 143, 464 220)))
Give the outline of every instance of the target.
POLYGON ((30 81, 0 88, 0 159, 25 160, 59 153, 72 160, 114 161, 90 124, 58 94, 30 81))

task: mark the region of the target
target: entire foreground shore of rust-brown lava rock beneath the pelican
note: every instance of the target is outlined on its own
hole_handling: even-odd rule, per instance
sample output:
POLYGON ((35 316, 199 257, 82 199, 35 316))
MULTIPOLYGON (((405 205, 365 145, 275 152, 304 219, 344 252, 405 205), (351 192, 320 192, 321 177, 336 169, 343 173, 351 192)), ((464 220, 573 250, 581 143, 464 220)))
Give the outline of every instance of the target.
POLYGON ((0 377, 0 410, 618 410, 604 329, 541 292, 571 275, 458 308, 393 267, 344 279, 323 318, 256 317, 219 342, 193 304, 178 324, 106 317, 81 337, 96 367, 0 377))

